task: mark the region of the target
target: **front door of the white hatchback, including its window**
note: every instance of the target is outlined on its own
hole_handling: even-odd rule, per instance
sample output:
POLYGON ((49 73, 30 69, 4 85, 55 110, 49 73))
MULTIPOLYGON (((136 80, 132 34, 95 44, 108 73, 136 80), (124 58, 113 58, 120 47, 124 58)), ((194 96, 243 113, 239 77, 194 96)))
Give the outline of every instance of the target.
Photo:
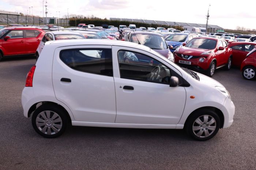
MULTIPOLYGON (((153 54, 113 46, 116 123, 177 124, 185 107, 184 87, 169 86, 178 73, 153 54), (161 73, 155 74, 160 67, 161 73), (153 73, 154 72, 154 73, 153 73)), ((170 66, 170 65, 169 65, 170 66)), ((180 74, 180 73, 179 73, 180 74)))

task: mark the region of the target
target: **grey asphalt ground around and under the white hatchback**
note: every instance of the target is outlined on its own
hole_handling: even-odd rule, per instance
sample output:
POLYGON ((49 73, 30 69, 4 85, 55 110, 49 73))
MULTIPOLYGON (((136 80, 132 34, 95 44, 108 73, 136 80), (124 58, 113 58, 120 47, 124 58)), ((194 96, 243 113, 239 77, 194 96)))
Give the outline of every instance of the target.
POLYGON ((0 62, 0 169, 246 169, 256 167, 256 81, 237 68, 213 78, 230 92, 234 123, 211 140, 182 130, 68 127, 55 139, 39 136, 23 116, 21 93, 35 57, 0 62))

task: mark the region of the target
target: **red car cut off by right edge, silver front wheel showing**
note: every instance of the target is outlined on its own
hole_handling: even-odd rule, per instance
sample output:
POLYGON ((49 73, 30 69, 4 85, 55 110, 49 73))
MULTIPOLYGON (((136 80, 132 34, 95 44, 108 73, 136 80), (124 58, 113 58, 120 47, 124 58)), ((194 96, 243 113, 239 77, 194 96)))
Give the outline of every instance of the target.
POLYGON ((255 48, 246 55, 245 60, 241 64, 240 70, 242 76, 246 80, 255 80, 256 76, 256 46, 255 48))

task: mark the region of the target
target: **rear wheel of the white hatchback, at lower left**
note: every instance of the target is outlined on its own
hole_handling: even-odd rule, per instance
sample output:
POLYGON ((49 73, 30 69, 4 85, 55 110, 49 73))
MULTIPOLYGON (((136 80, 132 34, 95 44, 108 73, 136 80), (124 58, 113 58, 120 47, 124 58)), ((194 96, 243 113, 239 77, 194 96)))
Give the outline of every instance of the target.
POLYGON ((67 123, 65 110, 53 104, 39 106, 32 115, 34 130, 45 138, 56 138, 63 134, 67 123))

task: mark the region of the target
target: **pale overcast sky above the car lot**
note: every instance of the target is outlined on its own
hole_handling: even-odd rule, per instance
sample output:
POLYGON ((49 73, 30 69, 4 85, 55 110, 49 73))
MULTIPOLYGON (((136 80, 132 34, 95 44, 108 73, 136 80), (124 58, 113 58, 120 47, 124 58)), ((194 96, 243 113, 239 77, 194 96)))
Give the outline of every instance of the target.
MULTIPOLYGON (((44 1, 45 3, 45 1, 44 1)), ((69 14, 94 15, 99 18, 132 18, 206 24, 208 5, 209 24, 236 29, 237 26, 256 29, 256 0, 48 0, 48 16, 69 14)), ((22 12, 33 6, 33 14, 40 15, 42 0, 1 0, 0 9, 22 12)), ((44 7, 45 12, 45 7, 44 7)), ((30 8, 32 14, 32 8, 30 8)))

